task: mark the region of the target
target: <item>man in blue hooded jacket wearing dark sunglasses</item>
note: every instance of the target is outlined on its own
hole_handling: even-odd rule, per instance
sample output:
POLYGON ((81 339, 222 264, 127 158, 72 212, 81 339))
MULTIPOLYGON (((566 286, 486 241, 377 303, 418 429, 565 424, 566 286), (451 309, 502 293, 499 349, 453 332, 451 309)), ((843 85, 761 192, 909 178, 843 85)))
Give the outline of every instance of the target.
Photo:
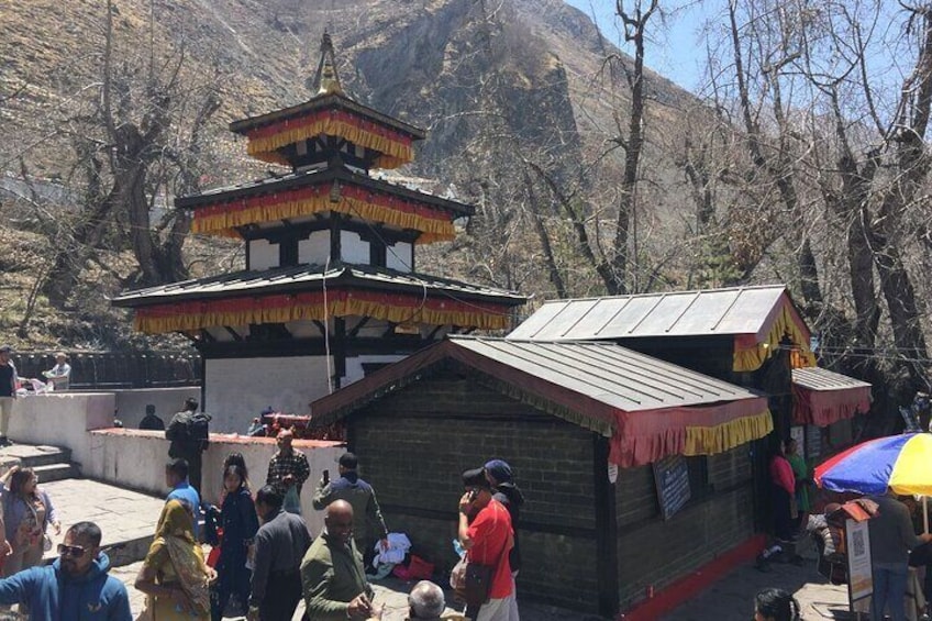
POLYGON ((132 621, 126 587, 107 575, 100 529, 78 522, 65 533, 52 565, 30 567, 0 580, 0 603, 29 605, 35 621, 132 621))

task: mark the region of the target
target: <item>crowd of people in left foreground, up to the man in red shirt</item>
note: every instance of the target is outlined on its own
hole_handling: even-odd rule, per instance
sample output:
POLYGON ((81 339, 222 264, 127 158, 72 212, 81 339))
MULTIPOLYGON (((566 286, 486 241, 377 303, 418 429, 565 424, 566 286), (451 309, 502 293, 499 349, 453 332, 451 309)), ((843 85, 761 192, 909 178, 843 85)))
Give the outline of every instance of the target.
MULTIPOLYGON (((2 352, 0 352, 2 353, 2 352)), ((370 576, 365 572, 379 551, 389 548, 389 529, 373 486, 358 473, 353 453, 339 459, 331 480, 323 470, 312 506, 324 512, 318 536, 301 515, 300 498, 311 468, 279 432, 265 484, 253 490, 244 456, 223 462, 219 507, 201 497, 201 454, 206 421, 199 404, 186 400, 164 428, 170 441, 165 465, 167 495, 134 587, 145 594, 145 620, 290 621, 301 600, 309 621, 379 619, 370 576), (204 554, 204 544, 210 551, 204 554)), ((147 417, 157 419, 154 411, 147 417)), ((409 596, 412 621, 517 621, 514 577, 520 568, 515 526, 523 496, 510 466, 492 459, 462 474, 458 542, 473 568, 487 569, 475 584, 454 585, 465 614, 445 613, 444 590, 422 580, 409 596)), ((60 532, 52 498, 30 468, 13 466, 0 476, 3 534, 0 605, 20 605, 31 619, 132 619, 125 586, 109 575, 100 529, 80 522, 65 533, 58 558, 42 565, 51 546, 48 529, 60 532)))

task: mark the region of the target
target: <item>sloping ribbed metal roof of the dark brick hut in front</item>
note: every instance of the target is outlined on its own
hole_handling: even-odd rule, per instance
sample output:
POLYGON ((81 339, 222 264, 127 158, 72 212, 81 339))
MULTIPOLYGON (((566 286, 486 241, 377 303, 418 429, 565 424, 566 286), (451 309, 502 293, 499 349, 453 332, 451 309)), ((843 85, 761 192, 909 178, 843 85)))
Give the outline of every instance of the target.
POLYGON ((614 343, 541 343, 451 336, 456 346, 625 412, 759 395, 614 343))

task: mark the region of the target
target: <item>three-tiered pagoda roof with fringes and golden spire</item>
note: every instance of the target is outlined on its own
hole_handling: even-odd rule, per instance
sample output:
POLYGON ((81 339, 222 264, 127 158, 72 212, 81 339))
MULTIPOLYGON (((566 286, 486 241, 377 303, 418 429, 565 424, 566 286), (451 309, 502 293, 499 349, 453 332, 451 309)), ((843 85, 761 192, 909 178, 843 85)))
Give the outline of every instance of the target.
POLYGON ((326 34, 321 52, 314 97, 230 125, 249 155, 291 171, 175 201, 191 210, 192 232, 245 240, 247 268, 127 291, 113 304, 135 309, 140 331, 196 342, 214 328, 345 317, 431 335, 508 328, 523 296, 414 273, 412 244, 453 240, 454 220, 474 210, 369 176, 410 163, 425 134, 344 95, 326 34))

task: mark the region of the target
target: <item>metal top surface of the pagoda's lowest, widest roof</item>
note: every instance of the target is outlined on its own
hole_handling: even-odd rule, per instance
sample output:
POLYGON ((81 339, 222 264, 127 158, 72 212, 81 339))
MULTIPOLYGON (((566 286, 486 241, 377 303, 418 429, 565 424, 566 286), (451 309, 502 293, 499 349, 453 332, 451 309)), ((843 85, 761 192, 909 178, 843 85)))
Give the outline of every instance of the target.
POLYGON ((514 291, 495 289, 437 278, 422 274, 407 274, 388 268, 331 264, 324 271, 319 265, 298 265, 271 269, 241 270, 208 278, 198 278, 125 291, 111 301, 116 307, 137 307, 162 302, 193 299, 215 299, 232 296, 297 292, 319 289, 326 280, 328 287, 355 285, 369 289, 397 291, 425 291, 455 293, 456 296, 509 306, 523 304, 526 297, 514 291))

